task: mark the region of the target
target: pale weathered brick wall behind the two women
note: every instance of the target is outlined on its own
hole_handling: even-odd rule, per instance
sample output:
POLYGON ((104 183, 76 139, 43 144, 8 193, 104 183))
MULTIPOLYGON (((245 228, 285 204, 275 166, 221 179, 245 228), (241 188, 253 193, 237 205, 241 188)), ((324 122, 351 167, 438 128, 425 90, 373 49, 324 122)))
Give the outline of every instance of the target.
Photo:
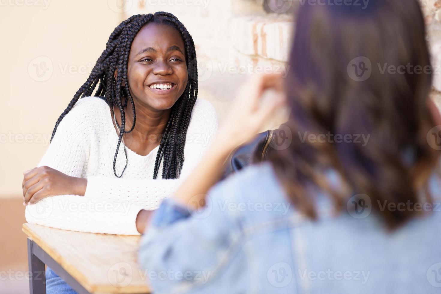
MULTIPOLYGON (((203 5, 203 1, 188 0, 184 5, 158 6, 144 0, 134 1, 126 17, 162 10, 172 12, 185 24, 198 53, 199 96, 215 104, 222 120, 247 74, 284 66, 292 36, 292 12, 300 1, 206 0, 203 5)), ((433 64, 440 67, 433 97, 441 106, 441 0, 420 2, 433 64)))

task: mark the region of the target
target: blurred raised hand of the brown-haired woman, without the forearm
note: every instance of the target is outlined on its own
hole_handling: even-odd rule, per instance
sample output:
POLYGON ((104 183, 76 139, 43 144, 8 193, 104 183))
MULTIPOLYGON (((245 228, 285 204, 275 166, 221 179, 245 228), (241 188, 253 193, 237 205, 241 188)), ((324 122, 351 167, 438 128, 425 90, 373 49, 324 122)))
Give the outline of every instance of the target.
POLYGON ((284 104, 281 74, 253 75, 238 90, 219 136, 232 149, 254 138, 269 117, 284 104), (274 95, 262 99, 266 90, 274 95))

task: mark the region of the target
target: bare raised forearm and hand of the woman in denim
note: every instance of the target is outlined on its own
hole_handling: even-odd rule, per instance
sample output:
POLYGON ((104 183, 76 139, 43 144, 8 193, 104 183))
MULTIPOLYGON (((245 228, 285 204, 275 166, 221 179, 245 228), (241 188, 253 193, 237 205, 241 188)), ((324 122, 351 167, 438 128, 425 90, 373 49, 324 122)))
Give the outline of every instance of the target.
POLYGON ((221 167, 229 154, 238 145, 254 138, 271 114, 284 103, 282 88, 280 74, 256 75, 241 86, 207 153, 172 196, 175 201, 189 210, 204 205, 206 193, 220 178, 221 167), (262 94, 267 89, 274 89, 279 94, 262 101, 262 94))

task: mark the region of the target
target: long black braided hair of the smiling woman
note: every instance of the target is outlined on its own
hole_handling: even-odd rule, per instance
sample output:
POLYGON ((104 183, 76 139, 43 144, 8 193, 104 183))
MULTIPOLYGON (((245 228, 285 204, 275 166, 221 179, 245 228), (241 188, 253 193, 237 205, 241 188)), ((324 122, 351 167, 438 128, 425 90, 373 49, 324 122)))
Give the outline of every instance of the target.
POLYGON ((52 131, 51 142, 61 120, 71 111, 80 96, 91 96, 93 90, 98 85, 98 89, 94 96, 104 97, 112 110, 113 105, 116 105, 121 113, 120 135, 118 144, 116 145, 115 157, 113 159, 113 173, 118 178, 123 175, 123 172, 127 167, 126 162, 126 166, 121 172, 121 175, 116 174, 116 156, 120 149, 121 140, 123 134, 130 133, 135 128, 136 122, 135 104, 133 103, 133 98, 128 90, 127 60, 132 41, 136 34, 144 25, 152 22, 175 27, 179 31, 185 45, 188 71, 187 87, 172 107, 170 118, 168 119, 164 134, 161 138, 153 172, 153 179, 157 179, 161 160, 164 160, 162 179, 179 178, 184 161, 187 128, 190 123, 191 111, 193 110, 194 103, 198 97, 198 69, 193 38, 188 33, 185 26, 171 13, 159 11, 155 14, 133 15, 127 20, 121 22, 110 34, 106 48, 98 58, 89 78, 87 78, 87 81, 75 93, 67 108, 58 118, 54 130, 52 131), (114 78, 115 70, 117 71, 116 79, 114 78), (121 86, 123 82, 126 87, 121 86), (130 101, 132 105, 133 125, 130 130, 126 131, 124 108, 127 106, 128 101, 130 101))

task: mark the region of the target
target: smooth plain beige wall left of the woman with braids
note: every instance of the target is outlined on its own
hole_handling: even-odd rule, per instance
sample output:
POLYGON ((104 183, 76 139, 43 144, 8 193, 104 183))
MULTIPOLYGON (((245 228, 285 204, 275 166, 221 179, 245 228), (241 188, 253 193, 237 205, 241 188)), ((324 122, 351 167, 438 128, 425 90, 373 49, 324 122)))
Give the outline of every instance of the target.
POLYGON ((38 163, 122 19, 106 0, 0 0, 0 197, 21 193, 22 171, 38 163), (38 66, 49 71, 38 77, 38 66))

